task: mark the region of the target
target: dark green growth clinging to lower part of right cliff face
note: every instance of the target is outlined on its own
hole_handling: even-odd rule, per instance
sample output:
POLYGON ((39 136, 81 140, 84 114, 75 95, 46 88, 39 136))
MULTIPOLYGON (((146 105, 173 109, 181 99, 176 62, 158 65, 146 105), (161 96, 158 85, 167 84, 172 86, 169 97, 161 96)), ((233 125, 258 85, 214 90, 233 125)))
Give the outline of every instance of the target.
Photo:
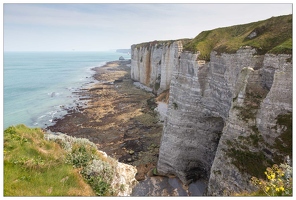
POLYGON ((292 113, 278 115, 277 126, 283 128, 283 131, 275 138, 273 145, 264 141, 256 125, 250 127, 252 131, 248 136, 239 136, 237 141, 227 140, 226 145, 229 148, 226 153, 232 158, 232 164, 241 172, 263 178, 267 166, 273 162, 283 162, 286 155, 292 157, 292 113), (250 146, 257 150, 250 151, 250 146), (273 153, 268 149, 272 149, 273 153), (266 153, 272 156, 272 160, 266 153))

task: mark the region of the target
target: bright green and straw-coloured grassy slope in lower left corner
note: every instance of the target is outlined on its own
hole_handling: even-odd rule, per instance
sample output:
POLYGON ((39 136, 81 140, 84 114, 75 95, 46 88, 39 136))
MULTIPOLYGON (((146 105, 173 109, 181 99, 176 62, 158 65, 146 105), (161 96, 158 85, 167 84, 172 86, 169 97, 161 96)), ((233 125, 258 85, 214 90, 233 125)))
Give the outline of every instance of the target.
POLYGON ((55 142, 24 125, 4 131, 4 196, 95 196, 55 142))

